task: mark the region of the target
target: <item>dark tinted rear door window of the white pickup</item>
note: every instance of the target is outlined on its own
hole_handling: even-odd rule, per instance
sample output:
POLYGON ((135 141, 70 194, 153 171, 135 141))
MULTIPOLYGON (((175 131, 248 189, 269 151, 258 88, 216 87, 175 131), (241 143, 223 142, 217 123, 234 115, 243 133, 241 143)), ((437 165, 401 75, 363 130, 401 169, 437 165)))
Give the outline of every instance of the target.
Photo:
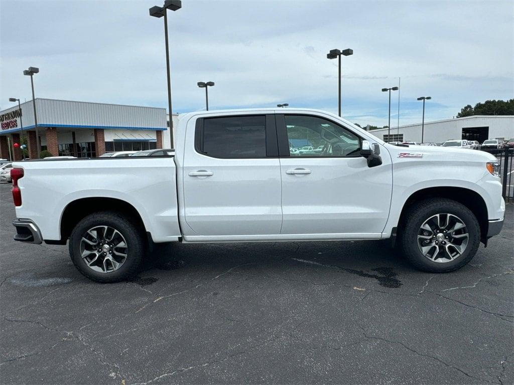
POLYGON ((265 158, 266 116, 206 118, 196 147, 214 158, 265 158))

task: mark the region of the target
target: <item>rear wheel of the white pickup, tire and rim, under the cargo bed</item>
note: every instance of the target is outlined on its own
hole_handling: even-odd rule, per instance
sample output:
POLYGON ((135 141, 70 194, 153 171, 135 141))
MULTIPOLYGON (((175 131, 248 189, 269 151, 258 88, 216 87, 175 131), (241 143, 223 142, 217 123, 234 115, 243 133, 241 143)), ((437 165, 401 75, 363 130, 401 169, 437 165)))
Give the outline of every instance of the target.
POLYGON ((100 211, 82 219, 71 232, 71 261, 87 278, 118 282, 139 271, 144 255, 141 229, 116 211, 100 211))

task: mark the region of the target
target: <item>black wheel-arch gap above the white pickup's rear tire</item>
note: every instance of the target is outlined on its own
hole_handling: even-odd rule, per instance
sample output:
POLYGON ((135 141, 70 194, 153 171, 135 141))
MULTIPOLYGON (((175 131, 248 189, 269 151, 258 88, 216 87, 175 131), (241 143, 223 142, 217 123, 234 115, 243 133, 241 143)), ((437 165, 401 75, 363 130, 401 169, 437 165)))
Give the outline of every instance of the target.
POLYGON ((61 216, 61 239, 59 242, 52 243, 66 243, 66 240, 69 238, 71 231, 77 223, 87 215, 98 211, 117 211, 118 213, 131 218, 138 227, 146 232, 141 215, 132 204, 118 198, 87 197, 76 199, 66 205, 61 216))

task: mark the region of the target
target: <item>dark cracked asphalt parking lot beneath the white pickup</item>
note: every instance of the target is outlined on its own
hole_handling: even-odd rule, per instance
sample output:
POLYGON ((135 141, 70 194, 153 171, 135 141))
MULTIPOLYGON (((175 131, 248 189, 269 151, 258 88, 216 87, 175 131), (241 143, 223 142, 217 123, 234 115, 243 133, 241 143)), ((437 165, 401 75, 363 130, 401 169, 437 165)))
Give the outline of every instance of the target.
POLYGON ((450 274, 386 242, 177 244, 99 284, 12 240, 0 184, 0 382, 514 382, 513 215, 450 274))

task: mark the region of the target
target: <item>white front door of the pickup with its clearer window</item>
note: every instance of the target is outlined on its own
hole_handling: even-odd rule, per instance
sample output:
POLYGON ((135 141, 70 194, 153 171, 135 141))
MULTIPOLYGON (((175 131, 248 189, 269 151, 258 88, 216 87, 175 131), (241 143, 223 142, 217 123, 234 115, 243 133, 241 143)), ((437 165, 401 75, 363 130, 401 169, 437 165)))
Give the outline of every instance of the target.
POLYGON ((277 129, 281 233, 377 238, 386 225, 392 194, 386 150, 382 165, 368 167, 359 155, 362 139, 357 133, 314 115, 277 115, 277 129), (284 148, 289 148, 289 156, 283 156, 284 148))

